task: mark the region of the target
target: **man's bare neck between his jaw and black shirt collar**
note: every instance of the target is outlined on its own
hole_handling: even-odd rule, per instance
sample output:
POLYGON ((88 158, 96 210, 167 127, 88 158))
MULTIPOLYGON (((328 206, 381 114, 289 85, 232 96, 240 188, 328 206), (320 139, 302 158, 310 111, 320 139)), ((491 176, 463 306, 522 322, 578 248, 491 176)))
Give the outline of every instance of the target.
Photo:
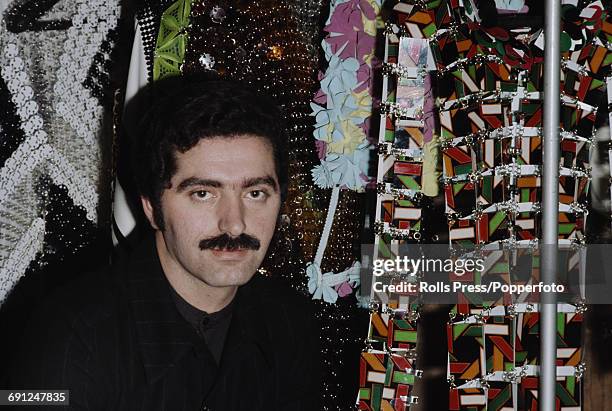
POLYGON ((185 301, 207 313, 220 311, 232 302, 237 286, 213 287, 185 270, 170 256, 161 231, 155 233, 155 244, 164 275, 185 301))

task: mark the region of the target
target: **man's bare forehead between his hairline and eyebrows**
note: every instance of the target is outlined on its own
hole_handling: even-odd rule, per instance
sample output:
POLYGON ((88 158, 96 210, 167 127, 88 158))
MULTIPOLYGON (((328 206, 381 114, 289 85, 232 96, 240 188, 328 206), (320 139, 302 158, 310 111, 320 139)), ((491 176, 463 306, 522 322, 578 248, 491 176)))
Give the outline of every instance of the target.
POLYGON ((205 177, 235 181, 265 175, 278 177, 272 144, 264 137, 207 137, 186 152, 177 152, 175 158, 173 178, 205 177))

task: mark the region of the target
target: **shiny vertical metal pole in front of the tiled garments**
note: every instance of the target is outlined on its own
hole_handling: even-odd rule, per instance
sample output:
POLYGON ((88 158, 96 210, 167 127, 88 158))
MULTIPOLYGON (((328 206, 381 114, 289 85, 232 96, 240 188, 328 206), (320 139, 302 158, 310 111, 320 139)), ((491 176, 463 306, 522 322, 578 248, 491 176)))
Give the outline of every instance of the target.
MULTIPOLYGON (((561 0, 546 0, 544 49, 544 146, 542 178, 542 281, 552 284, 557 271, 559 220, 559 104, 561 0)), ((557 304, 542 293, 540 305, 540 411, 555 409, 557 304)))

